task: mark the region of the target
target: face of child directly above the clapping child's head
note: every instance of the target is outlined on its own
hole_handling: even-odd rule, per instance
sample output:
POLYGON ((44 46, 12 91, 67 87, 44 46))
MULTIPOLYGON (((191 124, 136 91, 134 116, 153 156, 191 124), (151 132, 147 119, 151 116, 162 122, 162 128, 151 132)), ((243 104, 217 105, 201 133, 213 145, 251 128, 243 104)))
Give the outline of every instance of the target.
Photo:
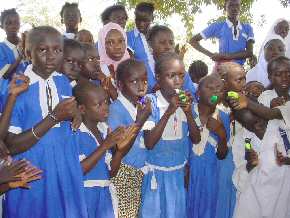
POLYGON ((92 47, 86 52, 83 61, 82 75, 87 79, 98 79, 98 73, 101 72, 100 57, 95 47, 92 47))

